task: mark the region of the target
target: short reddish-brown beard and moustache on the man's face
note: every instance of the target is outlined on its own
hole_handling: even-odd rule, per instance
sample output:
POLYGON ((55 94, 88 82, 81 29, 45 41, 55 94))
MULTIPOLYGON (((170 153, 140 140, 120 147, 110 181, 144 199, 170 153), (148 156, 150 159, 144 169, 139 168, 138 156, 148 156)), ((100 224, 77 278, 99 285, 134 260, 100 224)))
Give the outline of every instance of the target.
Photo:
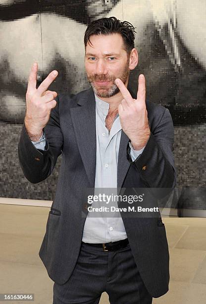
POLYGON ((127 81, 127 78, 129 76, 130 70, 129 70, 129 58, 127 60, 127 63, 124 67, 124 71, 121 75, 116 75, 116 76, 112 76, 112 75, 91 75, 91 76, 87 76, 87 79, 91 85, 91 87, 93 88, 93 91, 95 92, 95 94, 98 97, 103 97, 103 98, 108 98, 111 97, 115 94, 117 94, 119 92, 119 88, 118 86, 115 84, 114 80, 116 78, 119 78, 122 80, 122 82, 125 84, 127 81), (101 85, 101 87, 97 87, 95 85, 95 81, 112 81, 112 84, 110 87, 106 87, 101 85))

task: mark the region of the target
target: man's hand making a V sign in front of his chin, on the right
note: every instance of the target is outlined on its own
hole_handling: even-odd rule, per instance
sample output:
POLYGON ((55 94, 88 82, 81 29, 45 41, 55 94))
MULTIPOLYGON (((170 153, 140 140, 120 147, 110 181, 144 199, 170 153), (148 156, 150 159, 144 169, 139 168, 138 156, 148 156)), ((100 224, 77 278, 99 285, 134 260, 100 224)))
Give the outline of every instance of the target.
POLYGON ((150 137, 148 112, 145 103, 145 76, 143 74, 139 76, 137 99, 132 98, 119 78, 115 79, 115 83, 124 98, 118 106, 122 130, 131 140, 134 150, 141 150, 150 137))

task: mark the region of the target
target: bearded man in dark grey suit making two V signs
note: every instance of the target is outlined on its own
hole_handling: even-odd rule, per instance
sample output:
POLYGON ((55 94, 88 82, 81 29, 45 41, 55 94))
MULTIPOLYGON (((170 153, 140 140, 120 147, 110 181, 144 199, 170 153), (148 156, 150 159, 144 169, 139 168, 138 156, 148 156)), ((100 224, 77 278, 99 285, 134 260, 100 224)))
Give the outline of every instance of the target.
MULTIPOLYGON (((18 154, 32 183, 46 179, 62 154, 56 195, 39 255, 53 285, 53 304, 152 303, 168 291, 169 253, 161 217, 87 218, 87 188, 174 188, 169 111, 127 89, 138 64, 134 27, 115 17, 90 23, 84 36, 90 89, 78 94, 36 89, 37 64, 26 94, 18 154), (35 147, 36 146, 36 147, 35 147), (44 147, 45 146, 45 147, 44 147)), ((78 59, 77 59, 78 60, 78 59)))

